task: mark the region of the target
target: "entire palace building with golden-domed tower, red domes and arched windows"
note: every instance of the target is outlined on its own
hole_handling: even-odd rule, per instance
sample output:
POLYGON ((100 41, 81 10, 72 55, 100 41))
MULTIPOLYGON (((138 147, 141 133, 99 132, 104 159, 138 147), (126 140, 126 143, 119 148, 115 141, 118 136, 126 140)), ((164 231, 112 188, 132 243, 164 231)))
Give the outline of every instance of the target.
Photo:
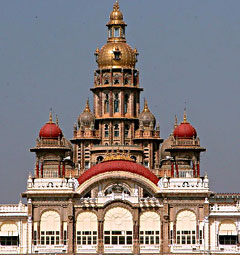
POLYGON ((167 139, 145 100, 138 51, 116 2, 96 49, 93 105, 68 140, 39 131, 22 197, 0 205, 0 254, 239 254, 240 194, 219 194, 201 173, 196 129, 175 120, 167 139))

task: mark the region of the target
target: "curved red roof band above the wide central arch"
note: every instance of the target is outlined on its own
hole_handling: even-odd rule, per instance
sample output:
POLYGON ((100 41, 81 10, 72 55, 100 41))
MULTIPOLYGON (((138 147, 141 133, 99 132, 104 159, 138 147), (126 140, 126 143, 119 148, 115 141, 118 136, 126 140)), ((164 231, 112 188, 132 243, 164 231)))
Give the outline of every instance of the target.
POLYGON ((157 176, 153 174, 149 169, 135 162, 126 161, 126 160, 113 160, 113 161, 106 161, 106 162, 97 164, 91 167, 90 169, 88 169, 86 172, 84 172, 78 178, 78 182, 81 185, 82 183, 89 180, 93 176, 96 176, 101 173, 113 172, 113 171, 124 171, 124 172, 139 174, 149 179, 156 185, 158 183, 157 176))

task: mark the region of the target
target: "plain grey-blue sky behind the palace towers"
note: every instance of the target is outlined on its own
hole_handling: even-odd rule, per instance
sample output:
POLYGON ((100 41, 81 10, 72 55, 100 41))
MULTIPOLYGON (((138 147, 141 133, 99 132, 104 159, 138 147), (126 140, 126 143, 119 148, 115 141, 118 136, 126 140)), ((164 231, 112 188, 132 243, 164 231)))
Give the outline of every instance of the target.
MULTIPOLYGON (((0 203, 25 191, 35 156, 29 148, 49 109, 67 138, 82 112, 106 42, 112 0, 1 0, 0 203)), ((197 129, 211 189, 240 192, 240 1, 120 0, 127 41, 161 136, 174 115, 197 129)))

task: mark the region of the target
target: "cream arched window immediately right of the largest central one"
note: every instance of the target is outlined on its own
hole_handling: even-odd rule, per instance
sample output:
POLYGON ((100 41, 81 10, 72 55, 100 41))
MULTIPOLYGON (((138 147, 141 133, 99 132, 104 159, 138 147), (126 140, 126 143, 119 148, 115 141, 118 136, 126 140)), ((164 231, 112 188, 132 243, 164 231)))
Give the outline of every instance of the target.
POLYGON ((140 216, 140 244, 160 243, 160 216, 155 212, 145 212, 140 216))

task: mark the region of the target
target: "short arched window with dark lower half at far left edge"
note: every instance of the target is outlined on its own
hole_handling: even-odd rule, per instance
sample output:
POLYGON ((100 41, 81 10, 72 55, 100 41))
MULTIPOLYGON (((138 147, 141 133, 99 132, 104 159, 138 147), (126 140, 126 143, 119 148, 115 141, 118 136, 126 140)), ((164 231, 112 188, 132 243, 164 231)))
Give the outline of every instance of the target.
POLYGON ((0 227, 0 245, 18 246, 18 228, 15 222, 6 221, 0 227))

